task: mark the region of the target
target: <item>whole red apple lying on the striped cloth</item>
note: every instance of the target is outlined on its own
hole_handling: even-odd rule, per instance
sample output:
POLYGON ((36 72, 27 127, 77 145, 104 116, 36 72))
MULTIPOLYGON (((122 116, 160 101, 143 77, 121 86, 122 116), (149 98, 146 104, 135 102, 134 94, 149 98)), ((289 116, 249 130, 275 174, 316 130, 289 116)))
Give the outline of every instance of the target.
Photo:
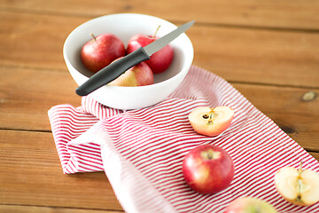
POLYGON ((230 186, 234 178, 234 163, 219 146, 201 145, 183 159, 183 177, 198 193, 219 193, 230 186))

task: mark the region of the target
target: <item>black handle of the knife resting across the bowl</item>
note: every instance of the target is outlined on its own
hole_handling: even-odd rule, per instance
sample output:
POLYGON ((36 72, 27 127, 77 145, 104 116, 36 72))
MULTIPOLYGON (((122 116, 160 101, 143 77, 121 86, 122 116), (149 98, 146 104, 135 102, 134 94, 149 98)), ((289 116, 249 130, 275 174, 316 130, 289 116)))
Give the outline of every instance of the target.
POLYGON ((99 70, 95 75, 92 75, 88 81, 79 86, 75 92, 79 96, 89 95, 92 91, 96 91, 105 84, 112 82, 130 67, 147 59, 150 59, 150 57, 144 51, 144 48, 140 47, 136 51, 99 70))

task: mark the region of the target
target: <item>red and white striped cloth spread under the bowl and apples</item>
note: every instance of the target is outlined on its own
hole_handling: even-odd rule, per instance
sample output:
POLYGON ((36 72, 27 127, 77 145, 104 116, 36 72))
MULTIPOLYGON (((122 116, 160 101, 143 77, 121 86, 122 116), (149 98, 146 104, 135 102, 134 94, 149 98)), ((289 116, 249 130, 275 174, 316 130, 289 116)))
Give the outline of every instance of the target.
POLYGON ((319 162, 255 108, 230 83, 192 66, 183 83, 155 106, 121 111, 85 97, 82 106, 53 106, 53 137, 67 174, 105 170, 127 212, 222 212, 242 196, 271 203, 278 212, 319 212, 319 203, 292 205, 276 193, 284 166, 319 172, 319 162), (230 106, 235 118, 217 137, 198 135, 188 114, 198 106, 230 106), (235 177, 221 193, 195 193, 183 180, 183 157, 201 144, 221 146, 235 177))

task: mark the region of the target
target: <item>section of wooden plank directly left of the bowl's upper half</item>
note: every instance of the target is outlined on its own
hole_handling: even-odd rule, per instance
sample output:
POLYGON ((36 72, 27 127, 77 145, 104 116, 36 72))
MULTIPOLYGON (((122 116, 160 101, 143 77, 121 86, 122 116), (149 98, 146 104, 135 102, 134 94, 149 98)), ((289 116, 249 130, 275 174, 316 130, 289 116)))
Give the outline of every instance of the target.
MULTIPOLYGON (((88 18, 0 12, 0 65, 66 70, 63 44, 88 18)), ((41 71, 40 70, 40 71, 41 71)))

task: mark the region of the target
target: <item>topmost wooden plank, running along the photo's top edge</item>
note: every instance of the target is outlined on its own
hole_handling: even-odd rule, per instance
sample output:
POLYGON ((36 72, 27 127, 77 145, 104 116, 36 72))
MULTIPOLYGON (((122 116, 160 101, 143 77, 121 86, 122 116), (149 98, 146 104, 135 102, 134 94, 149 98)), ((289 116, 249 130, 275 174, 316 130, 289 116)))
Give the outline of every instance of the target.
POLYGON ((264 28, 319 29, 319 2, 315 0, 162 0, 145 4, 144 0, 104 1, 89 4, 85 0, 44 2, 1 1, 3 10, 100 16, 118 12, 152 14, 166 20, 197 20, 202 23, 264 28))

